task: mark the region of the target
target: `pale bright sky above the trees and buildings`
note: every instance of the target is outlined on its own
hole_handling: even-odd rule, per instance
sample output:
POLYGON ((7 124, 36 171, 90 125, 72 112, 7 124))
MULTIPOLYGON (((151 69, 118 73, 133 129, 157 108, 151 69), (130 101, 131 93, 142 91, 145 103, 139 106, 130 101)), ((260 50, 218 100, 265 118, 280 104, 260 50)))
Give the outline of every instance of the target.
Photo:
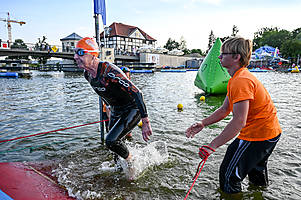
MULTIPOLYGON (((93 0, 0 0, 0 18, 25 21, 12 24, 12 37, 36 43, 46 36, 50 44, 75 32, 94 36, 93 0)), ((211 30, 216 37, 238 34, 253 39, 262 27, 292 31, 301 27, 301 0, 106 0, 107 26, 120 22, 141 28, 164 46, 168 38, 187 47, 206 50, 211 30)), ((102 28, 101 28, 102 31, 102 28)), ((6 23, 0 21, 0 39, 7 40, 6 23)))

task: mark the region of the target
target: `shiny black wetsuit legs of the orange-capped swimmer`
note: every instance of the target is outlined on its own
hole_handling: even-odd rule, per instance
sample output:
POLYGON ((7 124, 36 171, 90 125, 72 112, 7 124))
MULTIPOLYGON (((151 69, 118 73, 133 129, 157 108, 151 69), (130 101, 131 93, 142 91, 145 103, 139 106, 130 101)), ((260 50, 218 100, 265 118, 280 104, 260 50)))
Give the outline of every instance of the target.
POLYGON ((112 107, 106 136, 107 147, 122 158, 127 158, 129 151, 121 139, 136 127, 140 119, 139 109, 135 105, 112 107))

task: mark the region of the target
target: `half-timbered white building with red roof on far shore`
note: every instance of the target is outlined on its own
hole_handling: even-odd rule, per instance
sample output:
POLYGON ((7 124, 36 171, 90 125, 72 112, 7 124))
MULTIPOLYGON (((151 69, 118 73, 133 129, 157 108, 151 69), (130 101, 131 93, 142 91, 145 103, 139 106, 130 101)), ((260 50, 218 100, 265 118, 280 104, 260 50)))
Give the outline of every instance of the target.
POLYGON ((114 48, 115 55, 135 55, 140 47, 155 47, 157 41, 140 28, 122 23, 114 22, 104 32, 100 34, 101 45, 114 48))

